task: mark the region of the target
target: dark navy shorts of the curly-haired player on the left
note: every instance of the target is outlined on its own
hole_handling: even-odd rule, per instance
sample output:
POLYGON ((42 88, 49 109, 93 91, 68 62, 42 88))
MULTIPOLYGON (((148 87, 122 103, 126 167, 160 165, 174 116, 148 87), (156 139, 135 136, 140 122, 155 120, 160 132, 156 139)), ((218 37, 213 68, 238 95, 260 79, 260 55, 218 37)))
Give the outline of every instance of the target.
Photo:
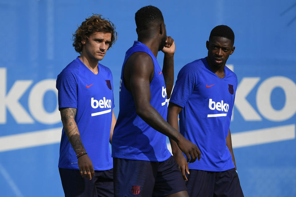
POLYGON ((79 170, 59 168, 65 197, 114 196, 113 169, 96 171, 91 180, 81 177, 79 170))

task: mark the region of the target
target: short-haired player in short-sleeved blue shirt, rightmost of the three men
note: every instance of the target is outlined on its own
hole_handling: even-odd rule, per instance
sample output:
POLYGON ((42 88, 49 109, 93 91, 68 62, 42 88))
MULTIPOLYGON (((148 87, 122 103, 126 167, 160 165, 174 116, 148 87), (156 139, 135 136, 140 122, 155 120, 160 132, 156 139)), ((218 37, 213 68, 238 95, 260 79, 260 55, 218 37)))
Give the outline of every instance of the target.
POLYGON ((199 162, 188 164, 170 140, 189 196, 243 196, 229 129, 237 77, 225 64, 235 49, 233 44, 232 29, 216 26, 206 42, 208 56, 180 70, 170 99, 168 123, 180 128, 202 154, 199 162))

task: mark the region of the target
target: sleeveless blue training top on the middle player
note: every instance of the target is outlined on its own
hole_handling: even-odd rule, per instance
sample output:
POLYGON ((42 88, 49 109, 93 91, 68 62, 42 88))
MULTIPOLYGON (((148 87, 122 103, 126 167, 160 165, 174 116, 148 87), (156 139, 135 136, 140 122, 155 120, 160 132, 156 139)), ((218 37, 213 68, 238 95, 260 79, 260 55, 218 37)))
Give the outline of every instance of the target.
POLYGON ((150 104, 167 120, 167 92, 158 62, 151 50, 135 41, 127 50, 121 70, 119 90, 119 114, 112 137, 112 157, 145 161, 164 161, 171 156, 167 149, 166 136, 150 127, 136 114, 132 93, 123 82, 125 62, 134 52, 149 54, 154 63, 154 76, 150 83, 150 104))

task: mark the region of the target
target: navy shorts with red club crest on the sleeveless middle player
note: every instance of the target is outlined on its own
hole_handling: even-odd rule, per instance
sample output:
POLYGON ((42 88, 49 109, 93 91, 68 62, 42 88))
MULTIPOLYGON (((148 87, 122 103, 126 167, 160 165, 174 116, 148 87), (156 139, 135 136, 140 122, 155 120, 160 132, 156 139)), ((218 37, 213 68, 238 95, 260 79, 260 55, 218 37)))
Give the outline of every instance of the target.
POLYGON ((164 196, 186 191, 173 156, 163 162, 113 158, 114 195, 164 196))

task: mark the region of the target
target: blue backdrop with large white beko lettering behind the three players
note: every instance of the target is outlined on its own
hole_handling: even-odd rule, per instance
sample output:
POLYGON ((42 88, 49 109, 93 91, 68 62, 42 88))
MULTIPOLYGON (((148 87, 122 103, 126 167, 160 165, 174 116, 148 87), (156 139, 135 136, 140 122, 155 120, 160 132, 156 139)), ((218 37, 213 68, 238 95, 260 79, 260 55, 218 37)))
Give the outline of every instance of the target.
MULTIPOLYGON (((296 2, 0 1, 1 196, 63 196, 57 163, 62 123, 57 74, 78 54, 72 33, 92 13, 108 17, 118 40, 100 62, 113 72, 115 115, 125 51, 137 39, 134 13, 157 6, 175 39, 175 79, 207 56, 216 25, 235 33, 228 66, 239 80, 230 129, 246 197, 296 196, 296 2)), ((162 63, 163 54, 158 54, 162 63)), ((198 111, 196 112, 198 113, 198 111)))

